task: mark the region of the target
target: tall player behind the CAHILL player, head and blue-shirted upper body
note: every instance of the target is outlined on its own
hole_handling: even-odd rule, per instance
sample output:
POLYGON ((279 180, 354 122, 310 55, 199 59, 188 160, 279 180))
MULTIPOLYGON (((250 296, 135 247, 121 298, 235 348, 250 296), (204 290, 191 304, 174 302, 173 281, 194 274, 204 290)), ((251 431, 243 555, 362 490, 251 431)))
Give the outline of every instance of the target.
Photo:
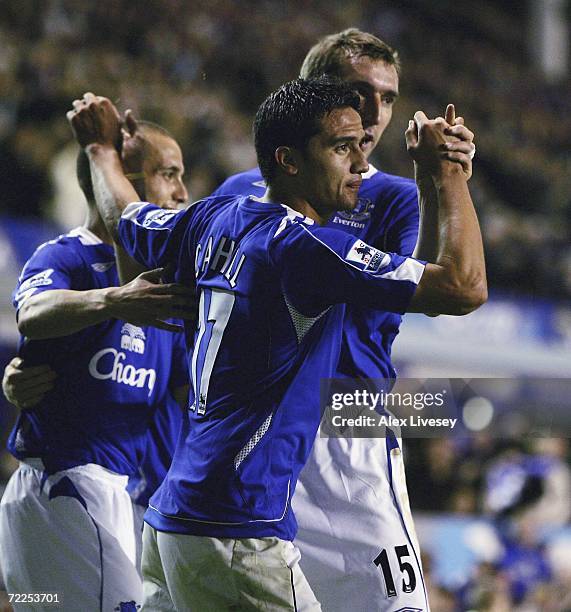
MULTIPOLYGON (((378 145, 392 118, 399 96, 400 60, 398 53, 372 34, 355 28, 326 36, 308 52, 300 76, 329 75, 349 83, 361 98, 360 114, 365 130, 363 151, 367 158, 378 145)), ((462 163, 471 175, 473 134, 461 117, 448 117, 455 124, 450 134, 449 159, 462 163)), ((418 168, 417 168, 418 170, 418 168)), ((420 177, 421 195, 434 199, 430 177, 420 177)), ((266 183, 259 168, 228 178, 212 195, 262 196, 266 183)), ((418 238, 419 203, 415 181, 387 174, 369 164, 363 175, 357 206, 352 211, 336 211, 327 225, 349 232, 382 250, 412 255, 418 238)), ((417 255, 433 261, 436 245, 421 245, 417 255)), ((339 374, 361 378, 393 378, 391 345, 402 317, 378 311, 363 313, 348 308, 339 374)))

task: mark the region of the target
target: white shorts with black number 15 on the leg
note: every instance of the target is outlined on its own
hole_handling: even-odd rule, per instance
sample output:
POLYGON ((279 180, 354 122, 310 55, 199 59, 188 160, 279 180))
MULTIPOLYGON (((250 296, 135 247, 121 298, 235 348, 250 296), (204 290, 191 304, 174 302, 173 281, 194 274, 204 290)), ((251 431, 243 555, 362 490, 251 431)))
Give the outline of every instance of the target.
POLYGON ((300 565, 325 612, 429 610, 397 438, 318 433, 293 508, 300 565))

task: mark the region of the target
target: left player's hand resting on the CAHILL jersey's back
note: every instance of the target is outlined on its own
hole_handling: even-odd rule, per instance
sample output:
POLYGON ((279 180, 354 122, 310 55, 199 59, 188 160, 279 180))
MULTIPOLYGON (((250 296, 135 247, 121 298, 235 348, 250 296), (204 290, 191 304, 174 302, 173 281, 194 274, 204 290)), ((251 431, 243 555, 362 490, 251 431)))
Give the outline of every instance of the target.
POLYGON ((177 283, 162 283, 163 268, 149 270, 122 287, 108 290, 110 313, 135 325, 151 325, 167 331, 182 327, 165 319, 196 320, 194 289, 177 283))

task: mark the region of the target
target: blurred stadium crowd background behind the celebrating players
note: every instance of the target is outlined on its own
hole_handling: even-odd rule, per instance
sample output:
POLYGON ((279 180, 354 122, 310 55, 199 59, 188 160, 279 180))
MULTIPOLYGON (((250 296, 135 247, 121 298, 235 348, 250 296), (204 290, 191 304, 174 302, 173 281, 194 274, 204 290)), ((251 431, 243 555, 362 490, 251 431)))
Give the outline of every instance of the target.
MULTIPOLYGON (((571 357, 570 22, 566 0, 1 1, 0 365, 15 350, 18 267, 83 218, 65 119, 74 98, 94 91, 169 129, 198 199, 255 165, 259 103, 297 76, 319 37, 351 26, 388 42, 402 61, 401 95, 373 163, 411 176, 408 119, 454 102, 476 134, 470 187, 492 297, 509 303, 499 318, 490 307, 493 321, 509 327, 535 316, 537 354, 553 354, 555 343, 560 358, 571 357)), ((445 373, 457 342, 441 375, 502 375, 482 364, 445 373)), ((406 351, 402 360, 407 371, 406 351)), ((0 439, 13 416, 3 404, 0 439)), ((475 435, 412 440, 406 451, 435 612, 571 610, 568 440, 475 435)), ((3 455, 0 480, 12 468, 3 455)))

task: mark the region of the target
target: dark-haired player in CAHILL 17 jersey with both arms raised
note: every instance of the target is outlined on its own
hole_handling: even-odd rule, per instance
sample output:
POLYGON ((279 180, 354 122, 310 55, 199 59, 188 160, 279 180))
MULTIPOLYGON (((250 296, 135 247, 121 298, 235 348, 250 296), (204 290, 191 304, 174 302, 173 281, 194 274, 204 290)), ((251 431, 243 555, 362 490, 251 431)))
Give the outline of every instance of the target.
POLYGON ((338 82, 298 79, 260 107, 263 199, 214 197, 178 213, 136 201, 109 100, 88 93, 73 106, 115 239, 200 293, 199 329, 186 329, 195 400, 145 517, 145 605, 319 609, 290 504, 320 421, 319 379, 337 367, 344 304, 465 314, 485 300, 466 178, 441 153, 450 126, 418 112, 406 133, 438 193, 439 256, 425 266, 320 227, 354 209, 367 171, 359 97, 338 82))

